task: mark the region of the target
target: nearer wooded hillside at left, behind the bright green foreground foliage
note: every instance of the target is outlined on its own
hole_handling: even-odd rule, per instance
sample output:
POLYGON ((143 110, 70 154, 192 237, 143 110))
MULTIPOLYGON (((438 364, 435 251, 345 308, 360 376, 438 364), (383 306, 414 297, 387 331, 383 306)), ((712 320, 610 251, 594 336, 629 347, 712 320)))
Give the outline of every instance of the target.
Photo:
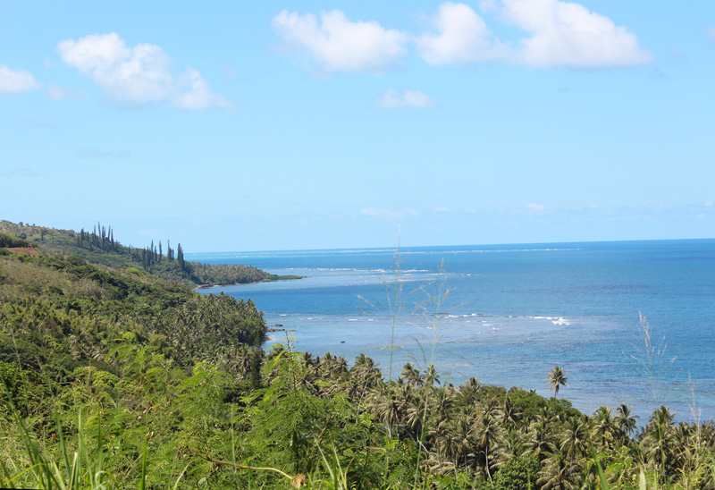
POLYGON ((36 256, 0 249, 0 321, 0 361, 51 367, 55 379, 102 359, 127 335, 189 365, 260 345, 265 334, 250 300, 202 296, 137 269, 113 270, 42 249, 36 256))

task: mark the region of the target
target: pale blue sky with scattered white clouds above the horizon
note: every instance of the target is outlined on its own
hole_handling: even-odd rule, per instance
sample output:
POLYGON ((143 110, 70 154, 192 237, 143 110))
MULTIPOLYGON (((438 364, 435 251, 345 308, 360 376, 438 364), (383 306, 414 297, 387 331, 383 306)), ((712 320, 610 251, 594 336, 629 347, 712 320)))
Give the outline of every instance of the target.
POLYGON ((715 2, 0 0, 0 219, 187 252, 715 237, 715 2))

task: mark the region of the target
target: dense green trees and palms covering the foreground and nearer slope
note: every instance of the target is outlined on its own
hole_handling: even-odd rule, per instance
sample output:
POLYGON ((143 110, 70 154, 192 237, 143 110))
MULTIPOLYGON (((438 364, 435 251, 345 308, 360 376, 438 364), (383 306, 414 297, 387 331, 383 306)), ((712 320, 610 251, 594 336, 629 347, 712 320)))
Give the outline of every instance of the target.
POLYGON ((0 486, 715 488, 712 422, 265 353, 250 301, 38 251, 0 250, 0 486))

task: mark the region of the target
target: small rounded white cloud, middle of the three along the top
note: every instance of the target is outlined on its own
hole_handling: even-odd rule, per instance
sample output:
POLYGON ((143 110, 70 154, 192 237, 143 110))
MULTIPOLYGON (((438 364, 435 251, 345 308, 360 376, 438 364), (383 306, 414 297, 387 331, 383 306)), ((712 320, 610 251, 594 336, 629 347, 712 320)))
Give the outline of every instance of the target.
POLYGON ((415 39, 417 54, 427 63, 470 63, 497 55, 492 33, 466 4, 440 5, 432 24, 436 34, 428 33, 415 39))

